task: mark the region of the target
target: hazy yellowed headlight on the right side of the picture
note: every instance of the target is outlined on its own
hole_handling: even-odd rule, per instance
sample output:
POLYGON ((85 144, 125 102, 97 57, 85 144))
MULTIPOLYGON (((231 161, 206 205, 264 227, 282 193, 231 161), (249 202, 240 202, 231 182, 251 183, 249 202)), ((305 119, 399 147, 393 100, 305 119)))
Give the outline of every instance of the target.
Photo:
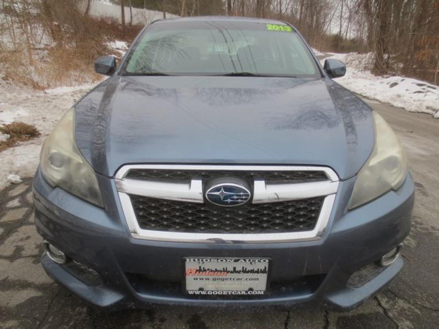
POLYGON ((407 175, 407 158, 403 146, 389 124, 373 113, 375 145, 371 156, 357 175, 349 209, 381 196, 389 190, 398 190, 407 175))

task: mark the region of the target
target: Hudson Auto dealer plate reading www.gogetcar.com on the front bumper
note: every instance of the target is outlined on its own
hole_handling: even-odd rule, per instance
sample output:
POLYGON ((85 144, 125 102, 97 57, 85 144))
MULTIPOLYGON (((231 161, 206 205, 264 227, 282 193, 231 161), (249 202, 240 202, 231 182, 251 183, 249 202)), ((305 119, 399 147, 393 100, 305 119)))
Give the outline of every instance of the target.
POLYGON ((268 258, 184 258, 189 295, 248 295, 266 292, 268 258))

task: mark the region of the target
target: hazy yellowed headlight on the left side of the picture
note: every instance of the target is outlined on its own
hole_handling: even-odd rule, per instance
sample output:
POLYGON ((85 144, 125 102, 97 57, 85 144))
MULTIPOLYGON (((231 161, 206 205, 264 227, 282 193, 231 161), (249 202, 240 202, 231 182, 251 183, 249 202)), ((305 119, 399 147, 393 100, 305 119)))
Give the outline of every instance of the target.
POLYGON ((71 108, 45 140, 40 154, 44 179, 55 187, 103 207, 101 190, 90 164, 75 142, 75 110, 71 108))

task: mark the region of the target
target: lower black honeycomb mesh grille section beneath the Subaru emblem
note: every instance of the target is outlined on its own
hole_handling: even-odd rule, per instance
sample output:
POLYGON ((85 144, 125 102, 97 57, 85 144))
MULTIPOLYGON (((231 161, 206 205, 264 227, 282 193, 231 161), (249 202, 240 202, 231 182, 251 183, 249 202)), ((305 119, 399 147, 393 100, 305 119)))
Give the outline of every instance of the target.
POLYGON ((193 233, 280 233, 314 229, 324 197, 219 207, 130 195, 140 228, 193 233))

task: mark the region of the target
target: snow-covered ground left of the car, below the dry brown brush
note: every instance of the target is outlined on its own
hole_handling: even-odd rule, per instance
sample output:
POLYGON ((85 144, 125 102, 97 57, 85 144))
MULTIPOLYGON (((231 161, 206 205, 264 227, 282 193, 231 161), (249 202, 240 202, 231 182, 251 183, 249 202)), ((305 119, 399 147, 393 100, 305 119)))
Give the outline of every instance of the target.
POLYGON ((0 153, 0 189, 9 184, 8 176, 32 177, 40 161, 43 140, 61 116, 79 100, 92 85, 60 87, 36 91, 0 82, 0 125, 22 121, 35 125, 41 136, 19 143, 0 153))

